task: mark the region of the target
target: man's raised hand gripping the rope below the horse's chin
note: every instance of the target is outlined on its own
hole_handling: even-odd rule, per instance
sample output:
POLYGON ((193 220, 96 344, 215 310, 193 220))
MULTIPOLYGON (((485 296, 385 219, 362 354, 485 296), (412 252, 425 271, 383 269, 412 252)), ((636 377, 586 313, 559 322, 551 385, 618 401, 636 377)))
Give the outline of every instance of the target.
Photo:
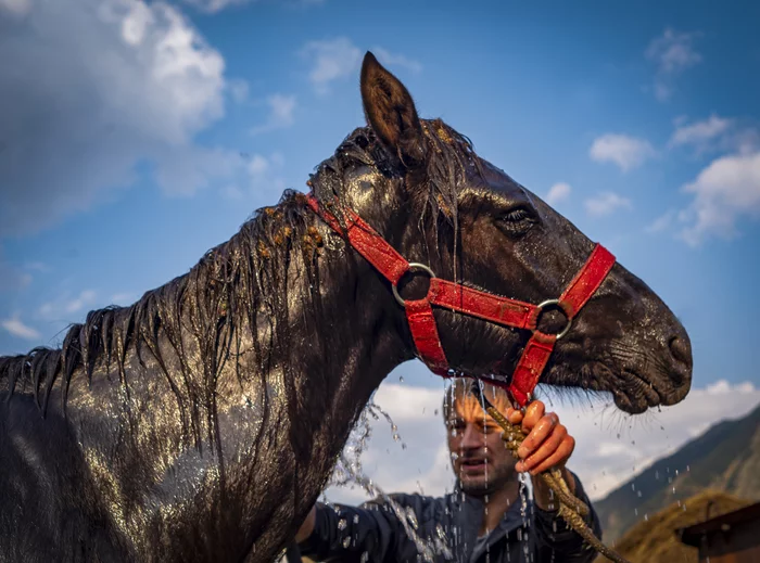
MULTIPOLYGON (((544 404, 534 400, 525 409, 524 415, 516 409, 507 409, 507 420, 512 424, 520 424, 522 432, 527 434, 517 455, 520 461, 515 469, 520 472, 529 472, 532 477, 539 473, 557 468, 561 471, 570 492, 575 492, 575 479, 565 469, 572 451, 575 449, 575 438, 568 434, 568 428, 560 424, 557 413, 545 413, 544 404)), ((556 503, 552 502, 552 492, 543 481, 533 478, 533 495, 539 508, 543 510, 556 510, 556 503)))

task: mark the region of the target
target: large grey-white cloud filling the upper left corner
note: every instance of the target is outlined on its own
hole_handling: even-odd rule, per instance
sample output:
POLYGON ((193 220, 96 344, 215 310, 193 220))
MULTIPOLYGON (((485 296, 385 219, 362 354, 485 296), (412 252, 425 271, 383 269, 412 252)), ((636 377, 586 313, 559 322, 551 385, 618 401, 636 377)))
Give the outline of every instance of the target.
POLYGON ((13 61, 0 65, 0 236, 113 197, 139 162, 161 170, 203 151, 193 138, 224 114, 225 61, 176 8, 2 2, 25 16, 0 20, 13 61))

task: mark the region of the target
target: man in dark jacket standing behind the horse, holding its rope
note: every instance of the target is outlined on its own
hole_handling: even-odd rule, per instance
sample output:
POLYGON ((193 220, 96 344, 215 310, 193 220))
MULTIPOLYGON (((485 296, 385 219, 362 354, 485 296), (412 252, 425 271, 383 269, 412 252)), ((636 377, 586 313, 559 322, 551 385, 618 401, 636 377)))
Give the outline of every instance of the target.
MULTIPOLYGON (((579 478, 565 468, 575 442, 535 400, 524 412, 510 408, 506 392, 486 385, 489 400, 527 437, 519 461, 502 442, 502 431, 471 393, 472 383, 455 380, 443 404, 448 449, 457 476, 454 492, 442 498, 391 495, 403 512, 376 499, 362 508, 315 506, 295 537, 303 555, 317 561, 425 561, 398 516, 414 514, 416 535, 429 545, 444 541, 451 553, 435 561, 465 563, 591 562, 595 552, 558 517, 552 491, 535 475, 560 468, 570 490, 590 504, 579 478), (519 472, 531 474, 534 501, 525 495, 519 472)), ((591 504, 590 504, 591 508, 591 504)), ((600 537, 593 508, 586 523, 600 537)), ((438 550, 442 551, 442 550, 438 550)))

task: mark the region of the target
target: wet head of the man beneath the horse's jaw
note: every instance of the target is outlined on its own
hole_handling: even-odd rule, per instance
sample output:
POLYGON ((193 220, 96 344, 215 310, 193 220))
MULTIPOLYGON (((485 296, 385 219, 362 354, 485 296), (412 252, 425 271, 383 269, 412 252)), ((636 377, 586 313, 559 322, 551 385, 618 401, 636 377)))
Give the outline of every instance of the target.
MULTIPOLYGON (((443 400, 443 420, 452 466, 461 489, 483 496, 515 477, 517 460, 504 447, 502 428, 485 413, 471 389, 472 380, 454 380, 443 400)), ((494 407, 506 412, 509 397, 504 389, 484 384, 483 392, 494 407)))

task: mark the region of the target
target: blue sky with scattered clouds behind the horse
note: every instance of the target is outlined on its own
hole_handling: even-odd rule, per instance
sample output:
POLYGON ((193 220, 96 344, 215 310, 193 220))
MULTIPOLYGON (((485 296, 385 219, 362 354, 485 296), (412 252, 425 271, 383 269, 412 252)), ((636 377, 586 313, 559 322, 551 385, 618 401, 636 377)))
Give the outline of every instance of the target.
MULTIPOLYGON (((584 433, 582 478, 608 490, 610 473, 760 401, 758 21, 751 2, 0 0, 0 354, 58 345, 89 310, 134 303, 305 190, 364 124, 371 50, 421 116, 467 135, 686 327, 682 405, 612 417, 603 434, 586 427, 603 407, 557 406, 584 433), (604 446, 660 420, 637 445, 604 446)), ((376 397, 425 409, 428 422, 395 414, 429 490, 448 478, 443 435, 425 430, 442 388, 410 362, 376 397)), ((404 463, 367 455, 383 486, 411 486, 404 463)))

